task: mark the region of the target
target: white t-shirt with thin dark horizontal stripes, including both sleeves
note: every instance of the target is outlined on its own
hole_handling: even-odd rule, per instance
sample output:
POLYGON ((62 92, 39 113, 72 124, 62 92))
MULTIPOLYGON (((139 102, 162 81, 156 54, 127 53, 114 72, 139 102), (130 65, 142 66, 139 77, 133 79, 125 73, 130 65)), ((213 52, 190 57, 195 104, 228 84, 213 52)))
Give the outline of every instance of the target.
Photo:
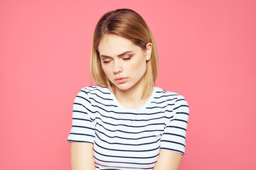
POLYGON ((141 108, 124 108, 108 88, 82 88, 73 103, 68 142, 93 145, 95 169, 153 169, 159 149, 184 154, 188 103, 154 87, 141 108))

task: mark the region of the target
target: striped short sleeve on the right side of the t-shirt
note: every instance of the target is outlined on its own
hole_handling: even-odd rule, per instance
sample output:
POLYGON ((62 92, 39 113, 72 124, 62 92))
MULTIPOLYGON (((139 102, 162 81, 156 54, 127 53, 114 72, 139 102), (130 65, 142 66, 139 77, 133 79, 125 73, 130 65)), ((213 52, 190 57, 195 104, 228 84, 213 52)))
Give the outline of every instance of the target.
POLYGON ((172 112, 173 116, 171 116, 161 137, 160 149, 169 149, 184 154, 189 107, 183 96, 177 97, 172 112))

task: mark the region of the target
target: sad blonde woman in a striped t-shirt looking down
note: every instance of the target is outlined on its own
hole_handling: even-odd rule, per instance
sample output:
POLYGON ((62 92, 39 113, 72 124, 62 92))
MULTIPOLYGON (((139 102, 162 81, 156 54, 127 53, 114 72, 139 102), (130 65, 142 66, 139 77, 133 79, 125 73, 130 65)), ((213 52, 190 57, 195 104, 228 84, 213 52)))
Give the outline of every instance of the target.
POLYGON ((178 169, 188 103, 154 86, 158 55, 138 13, 118 9, 97 23, 90 69, 97 86, 73 103, 72 169, 178 169))

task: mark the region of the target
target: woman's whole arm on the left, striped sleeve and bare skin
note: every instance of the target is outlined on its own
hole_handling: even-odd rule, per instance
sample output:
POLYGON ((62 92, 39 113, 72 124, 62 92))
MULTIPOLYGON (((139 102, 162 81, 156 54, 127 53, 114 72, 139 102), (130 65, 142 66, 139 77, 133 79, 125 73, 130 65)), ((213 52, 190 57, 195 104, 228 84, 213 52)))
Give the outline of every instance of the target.
POLYGON ((73 170, 95 170, 93 142, 95 124, 92 106, 85 90, 81 90, 73 103, 73 120, 68 142, 71 142, 71 164, 73 170))

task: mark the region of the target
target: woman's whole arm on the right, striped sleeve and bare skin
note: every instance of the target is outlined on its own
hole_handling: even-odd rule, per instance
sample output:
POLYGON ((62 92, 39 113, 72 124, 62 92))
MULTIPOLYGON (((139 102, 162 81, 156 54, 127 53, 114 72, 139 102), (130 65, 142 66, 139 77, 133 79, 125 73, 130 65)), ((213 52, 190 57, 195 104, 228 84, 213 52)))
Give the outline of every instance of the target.
POLYGON ((172 114, 161 136, 159 158, 154 170, 177 170, 185 152, 189 108, 183 96, 177 96, 172 114))

